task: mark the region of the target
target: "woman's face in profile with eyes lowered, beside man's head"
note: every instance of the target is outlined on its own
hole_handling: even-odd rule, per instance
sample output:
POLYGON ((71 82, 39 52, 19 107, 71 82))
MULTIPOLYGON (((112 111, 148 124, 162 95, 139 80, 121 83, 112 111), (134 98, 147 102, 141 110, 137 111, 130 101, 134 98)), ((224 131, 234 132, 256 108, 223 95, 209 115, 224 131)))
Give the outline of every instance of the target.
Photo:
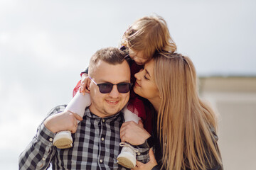
MULTIPOLYGON (((134 84, 134 92, 148 99, 150 102, 159 99, 159 90, 154 79, 154 60, 146 62, 144 69, 134 75, 137 79, 134 84)), ((151 102, 152 103, 152 102, 151 102)))

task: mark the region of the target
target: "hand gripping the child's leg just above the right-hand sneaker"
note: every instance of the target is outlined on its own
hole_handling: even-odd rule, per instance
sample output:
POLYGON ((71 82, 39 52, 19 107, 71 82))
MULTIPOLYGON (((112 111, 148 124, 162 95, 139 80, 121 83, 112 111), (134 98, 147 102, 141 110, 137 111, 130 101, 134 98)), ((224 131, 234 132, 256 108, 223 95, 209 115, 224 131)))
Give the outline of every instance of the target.
POLYGON ((123 123, 120 129, 120 137, 122 142, 142 145, 150 137, 150 134, 143 128, 142 120, 139 120, 138 124, 134 121, 123 123))

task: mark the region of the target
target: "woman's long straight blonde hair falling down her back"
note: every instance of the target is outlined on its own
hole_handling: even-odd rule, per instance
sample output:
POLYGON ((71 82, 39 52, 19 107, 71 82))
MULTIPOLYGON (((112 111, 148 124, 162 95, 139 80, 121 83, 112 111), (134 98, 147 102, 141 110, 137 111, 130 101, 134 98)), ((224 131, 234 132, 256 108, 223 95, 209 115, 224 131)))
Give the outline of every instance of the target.
POLYGON ((154 77, 161 96, 158 132, 166 169, 206 169, 222 164, 211 129, 213 110, 198 97, 196 70, 176 53, 154 58, 154 77))

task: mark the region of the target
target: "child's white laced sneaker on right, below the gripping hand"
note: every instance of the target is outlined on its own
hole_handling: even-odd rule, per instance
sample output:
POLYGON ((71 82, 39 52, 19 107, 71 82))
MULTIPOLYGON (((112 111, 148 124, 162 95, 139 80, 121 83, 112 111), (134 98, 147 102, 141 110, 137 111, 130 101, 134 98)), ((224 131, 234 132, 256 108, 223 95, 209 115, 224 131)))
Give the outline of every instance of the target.
POLYGON ((117 164, 120 164, 128 169, 132 169, 136 165, 136 152, 138 149, 135 149, 131 145, 121 142, 120 146, 122 147, 121 153, 117 157, 117 164))

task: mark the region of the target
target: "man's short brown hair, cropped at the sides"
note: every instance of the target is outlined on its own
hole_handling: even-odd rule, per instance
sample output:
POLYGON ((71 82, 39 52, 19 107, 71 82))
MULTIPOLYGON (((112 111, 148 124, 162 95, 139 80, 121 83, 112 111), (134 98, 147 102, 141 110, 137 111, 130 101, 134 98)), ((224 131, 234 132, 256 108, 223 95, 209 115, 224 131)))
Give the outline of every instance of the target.
POLYGON ((107 47, 97 50, 90 58, 89 75, 91 76, 95 72, 97 62, 102 60, 108 64, 122 64, 125 58, 125 53, 119 50, 117 47, 107 47))

